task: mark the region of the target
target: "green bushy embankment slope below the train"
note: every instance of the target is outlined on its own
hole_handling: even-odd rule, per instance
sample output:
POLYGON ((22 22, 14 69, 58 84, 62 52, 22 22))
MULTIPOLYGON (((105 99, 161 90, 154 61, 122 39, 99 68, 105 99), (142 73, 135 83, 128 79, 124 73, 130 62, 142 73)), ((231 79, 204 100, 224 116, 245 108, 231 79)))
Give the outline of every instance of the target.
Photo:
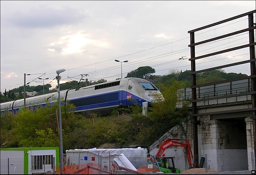
MULTIPOLYGON (((159 96, 146 116, 142 107, 117 109, 109 116, 78 114, 73 105, 62 106, 63 146, 66 149, 87 149, 102 144, 124 148, 129 144, 150 146, 170 128, 187 118, 187 109, 176 108, 177 90, 183 84, 173 82, 162 87, 165 101, 159 96)), ((18 114, 1 114, 2 148, 9 147, 55 147, 59 146, 58 104, 41 107, 35 111, 23 109, 18 114)))

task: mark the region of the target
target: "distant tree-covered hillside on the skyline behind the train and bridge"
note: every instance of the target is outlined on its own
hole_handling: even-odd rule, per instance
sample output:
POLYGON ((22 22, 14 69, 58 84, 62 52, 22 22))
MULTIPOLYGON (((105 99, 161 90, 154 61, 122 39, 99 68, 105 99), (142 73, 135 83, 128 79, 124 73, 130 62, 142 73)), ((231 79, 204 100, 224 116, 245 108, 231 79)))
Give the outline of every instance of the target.
MULTIPOLYGON (((184 88, 189 88, 191 85, 191 75, 190 70, 186 70, 184 72, 174 70, 170 74, 167 75, 153 75, 155 73, 155 70, 151 68, 150 66, 143 66, 139 67, 137 70, 133 70, 127 74, 127 77, 138 77, 143 78, 147 76, 149 80, 154 83, 158 88, 160 87, 160 84, 164 86, 172 85, 173 80, 176 80, 178 82, 185 83, 184 88)), ((204 84, 204 83, 210 83, 210 82, 216 82, 221 80, 227 80, 227 79, 235 79, 239 77, 245 77, 247 74, 236 74, 236 73, 225 73, 223 70, 211 70, 209 72, 204 72, 197 74, 197 84, 204 84)), ((92 84, 97 83, 103 83, 106 82, 105 79, 100 79, 97 81, 69 81, 66 83, 62 83, 60 88, 61 90, 64 89, 78 89, 81 87, 85 87, 92 84)), ((51 88, 50 84, 45 85, 45 93, 49 92, 56 92, 57 87, 55 87, 52 90, 49 90, 51 88)), ((24 86, 20 86, 19 88, 14 88, 9 91, 0 92, 0 102, 5 101, 12 101, 16 99, 23 99, 23 90, 24 86), (15 96, 15 93, 19 93, 19 96, 15 96)), ((27 92, 36 91, 37 95, 40 95, 43 93, 43 86, 26 86, 27 92)), ((161 91, 161 89, 160 89, 161 91)))

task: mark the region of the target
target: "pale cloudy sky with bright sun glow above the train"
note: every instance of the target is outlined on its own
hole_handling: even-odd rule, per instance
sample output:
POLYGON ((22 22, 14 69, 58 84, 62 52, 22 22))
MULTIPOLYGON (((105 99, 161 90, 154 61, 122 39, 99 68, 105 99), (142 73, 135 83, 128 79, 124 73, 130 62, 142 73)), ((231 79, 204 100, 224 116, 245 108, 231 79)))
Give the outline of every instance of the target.
MULTIPOLYGON (((191 70, 188 31, 255 9, 255 0, 1 0, 0 91, 23 86, 24 74, 30 86, 55 88, 60 69, 60 83, 111 81, 142 66, 154 75, 191 70)), ((247 27, 246 16, 198 31, 195 40, 247 27)), ((196 56, 244 43, 247 32, 196 47, 196 56)), ((239 49, 199 59, 196 70, 248 59, 249 49, 239 49)), ((222 70, 250 75, 249 64, 222 70)))

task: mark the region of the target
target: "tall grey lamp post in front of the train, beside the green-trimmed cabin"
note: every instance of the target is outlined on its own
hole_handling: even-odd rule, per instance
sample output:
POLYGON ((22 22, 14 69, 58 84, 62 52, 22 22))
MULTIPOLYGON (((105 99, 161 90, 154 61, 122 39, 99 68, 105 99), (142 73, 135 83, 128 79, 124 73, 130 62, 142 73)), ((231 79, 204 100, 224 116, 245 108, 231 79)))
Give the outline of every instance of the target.
POLYGON ((63 161, 63 141, 62 141, 62 123, 61 123, 61 106, 60 106, 60 87, 59 87, 59 80, 61 77, 59 76, 60 73, 66 71, 65 69, 57 70, 56 73, 58 74, 56 76, 56 79, 58 81, 58 93, 59 93, 59 154, 60 154, 60 172, 64 169, 64 161, 63 161))

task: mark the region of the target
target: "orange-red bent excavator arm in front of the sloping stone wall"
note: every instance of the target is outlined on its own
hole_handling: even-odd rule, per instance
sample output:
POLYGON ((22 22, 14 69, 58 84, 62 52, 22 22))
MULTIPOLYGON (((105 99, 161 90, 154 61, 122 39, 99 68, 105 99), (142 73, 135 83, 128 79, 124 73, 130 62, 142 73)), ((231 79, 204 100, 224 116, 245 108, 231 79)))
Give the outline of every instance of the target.
POLYGON ((191 150, 191 145, 189 144, 189 140, 186 139, 185 143, 178 142, 180 139, 166 139, 163 141, 160 145, 160 148, 158 149, 156 153, 156 157, 165 157, 165 151, 166 149, 172 147, 172 146, 179 146, 179 147, 184 147, 186 156, 187 156, 187 161, 189 164, 189 168, 194 168, 195 164, 192 163, 191 159, 193 159, 193 154, 191 150))

